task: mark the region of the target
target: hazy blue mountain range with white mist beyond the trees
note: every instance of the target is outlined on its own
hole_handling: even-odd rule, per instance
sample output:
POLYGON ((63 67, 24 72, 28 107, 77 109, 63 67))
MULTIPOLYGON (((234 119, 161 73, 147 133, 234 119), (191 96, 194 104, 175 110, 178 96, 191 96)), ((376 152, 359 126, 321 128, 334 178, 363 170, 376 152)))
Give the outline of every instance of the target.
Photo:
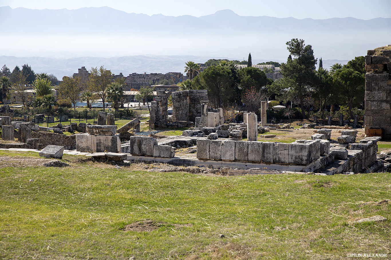
POLYGON ((284 62, 289 55, 285 43, 292 38, 311 44, 327 67, 328 60, 343 63, 391 44, 391 18, 295 19, 239 16, 231 10, 201 17, 148 16, 109 7, 4 6, 0 23, 0 64, 12 69, 29 63, 35 71, 53 71, 56 76, 100 65, 124 75, 183 71, 188 60, 243 60, 249 52, 253 64, 284 62))

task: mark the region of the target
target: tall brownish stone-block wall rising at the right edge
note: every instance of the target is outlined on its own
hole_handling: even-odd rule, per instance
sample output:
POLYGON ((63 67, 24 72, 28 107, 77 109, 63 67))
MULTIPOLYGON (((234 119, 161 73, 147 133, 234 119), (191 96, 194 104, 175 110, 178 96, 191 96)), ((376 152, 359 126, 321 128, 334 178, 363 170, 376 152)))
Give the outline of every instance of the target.
POLYGON ((382 129, 391 138, 391 50, 369 50, 365 56, 365 134, 382 129))

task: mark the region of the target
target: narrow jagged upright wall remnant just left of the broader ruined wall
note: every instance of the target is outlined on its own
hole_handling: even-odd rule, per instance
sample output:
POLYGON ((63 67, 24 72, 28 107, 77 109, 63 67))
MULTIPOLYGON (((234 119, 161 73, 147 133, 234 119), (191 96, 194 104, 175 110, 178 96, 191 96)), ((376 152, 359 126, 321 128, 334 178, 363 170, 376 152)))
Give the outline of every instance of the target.
POLYGON ((149 128, 154 129, 155 127, 164 127, 166 124, 168 113, 168 98, 164 91, 156 91, 155 101, 151 102, 151 113, 149 117, 149 128))

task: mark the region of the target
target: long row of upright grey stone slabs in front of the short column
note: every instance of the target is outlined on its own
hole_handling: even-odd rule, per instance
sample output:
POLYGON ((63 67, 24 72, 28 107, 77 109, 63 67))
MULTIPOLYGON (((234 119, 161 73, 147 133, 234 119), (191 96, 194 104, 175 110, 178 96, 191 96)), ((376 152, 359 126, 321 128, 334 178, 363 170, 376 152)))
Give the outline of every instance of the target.
POLYGON ((222 161, 252 161, 307 165, 323 152, 328 153, 329 141, 307 140, 303 143, 271 143, 259 141, 197 140, 197 158, 222 161), (328 149, 325 148, 325 146, 328 149))

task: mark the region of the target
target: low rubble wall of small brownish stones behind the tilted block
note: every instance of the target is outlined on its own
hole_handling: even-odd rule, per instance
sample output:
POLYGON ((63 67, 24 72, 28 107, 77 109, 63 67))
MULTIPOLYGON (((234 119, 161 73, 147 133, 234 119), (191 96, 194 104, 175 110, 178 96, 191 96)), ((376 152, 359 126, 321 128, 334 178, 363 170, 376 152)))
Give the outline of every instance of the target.
POLYGON ((76 149, 75 135, 67 136, 65 134, 31 131, 31 138, 39 139, 38 143, 42 144, 38 147, 39 150, 47 145, 62 145, 66 150, 76 149))

